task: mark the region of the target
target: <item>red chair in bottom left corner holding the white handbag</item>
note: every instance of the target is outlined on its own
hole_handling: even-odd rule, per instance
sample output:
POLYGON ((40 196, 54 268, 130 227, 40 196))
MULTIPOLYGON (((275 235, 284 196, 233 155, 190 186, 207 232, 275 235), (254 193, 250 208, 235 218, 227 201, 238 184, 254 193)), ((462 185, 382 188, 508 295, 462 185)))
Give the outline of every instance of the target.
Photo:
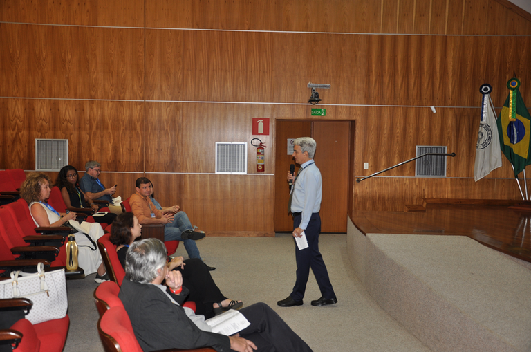
MULTIPOLYGON (((28 299, 1 299, 0 309, 12 309, 14 307, 27 309, 31 306, 28 299), (20 303, 21 302, 21 303, 20 303)), ((62 319, 54 319, 40 324, 31 324, 27 319, 20 319, 8 330, 15 340, 19 340, 16 352, 61 352, 68 335, 70 318, 66 315, 62 319)), ((6 331, 0 331, 0 339, 6 331)))

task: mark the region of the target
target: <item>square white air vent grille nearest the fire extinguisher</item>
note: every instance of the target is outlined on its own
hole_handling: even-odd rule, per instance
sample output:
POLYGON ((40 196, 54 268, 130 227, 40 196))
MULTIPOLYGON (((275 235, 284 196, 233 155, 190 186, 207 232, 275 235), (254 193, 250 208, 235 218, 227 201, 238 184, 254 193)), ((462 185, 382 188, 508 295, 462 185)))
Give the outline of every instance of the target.
POLYGON ((247 143, 216 142, 216 174, 247 174, 247 143))

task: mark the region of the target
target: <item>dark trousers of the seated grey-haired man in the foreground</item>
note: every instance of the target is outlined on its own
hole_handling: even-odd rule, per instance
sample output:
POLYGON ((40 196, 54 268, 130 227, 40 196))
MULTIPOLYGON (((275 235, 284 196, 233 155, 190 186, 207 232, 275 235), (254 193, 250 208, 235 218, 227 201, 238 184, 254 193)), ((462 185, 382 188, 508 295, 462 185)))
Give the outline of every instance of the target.
POLYGON ((265 303, 240 309, 250 326, 240 331, 240 337, 251 340, 258 352, 311 352, 304 342, 279 315, 265 303))

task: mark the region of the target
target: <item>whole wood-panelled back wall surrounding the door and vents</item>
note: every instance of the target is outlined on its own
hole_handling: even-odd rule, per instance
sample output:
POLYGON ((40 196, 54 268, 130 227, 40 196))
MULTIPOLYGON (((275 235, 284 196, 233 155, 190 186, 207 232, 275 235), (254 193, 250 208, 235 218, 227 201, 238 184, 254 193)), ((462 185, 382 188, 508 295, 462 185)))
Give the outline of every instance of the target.
POLYGON ((458 156, 445 179, 409 178, 411 164, 354 184, 354 207, 515 196, 506 161, 472 181, 478 87, 490 83, 501 106, 515 72, 531 105, 531 21, 505 0, 4 0, 0 22, 0 168, 32 169, 35 138, 68 138, 71 164, 100 161, 122 196, 149 173, 169 189, 159 199, 203 228, 268 233, 274 176, 212 174, 214 142, 250 142, 251 119, 270 118, 274 174, 276 119, 355 120, 357 176, 415 145, 458 156), (309 81, 332 84, 322 118, 310 116, 309 81))

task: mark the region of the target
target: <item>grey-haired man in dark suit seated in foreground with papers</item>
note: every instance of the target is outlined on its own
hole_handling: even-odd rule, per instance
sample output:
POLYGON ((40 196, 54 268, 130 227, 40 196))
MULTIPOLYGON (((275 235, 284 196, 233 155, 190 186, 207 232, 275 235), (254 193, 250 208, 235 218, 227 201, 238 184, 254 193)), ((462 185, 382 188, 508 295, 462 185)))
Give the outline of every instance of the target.
POLYGON ((312 351, 264 303, 241 308, 239 312, 250 325, 236 335, 213 333, 204 317, 180 306, 188 290, 183 285, 181 273, 168 270, 166 256, 164 243, 158 239, 131 243, 127 250, 125 279, 118 297, 131 319, 142 351, 206 346, 212 346, 216 351, 312 351), (162 286, 162 282, 166 286, 162 286))

